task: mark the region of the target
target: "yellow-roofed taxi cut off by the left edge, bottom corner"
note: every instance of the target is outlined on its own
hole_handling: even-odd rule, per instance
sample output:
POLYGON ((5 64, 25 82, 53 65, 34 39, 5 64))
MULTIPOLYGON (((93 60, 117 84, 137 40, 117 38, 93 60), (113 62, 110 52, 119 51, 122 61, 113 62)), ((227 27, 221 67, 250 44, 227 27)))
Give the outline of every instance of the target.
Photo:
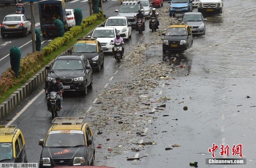
POLYGON ((22 131, 15 125, 0 126, 0 162, 28 162, 22 131))

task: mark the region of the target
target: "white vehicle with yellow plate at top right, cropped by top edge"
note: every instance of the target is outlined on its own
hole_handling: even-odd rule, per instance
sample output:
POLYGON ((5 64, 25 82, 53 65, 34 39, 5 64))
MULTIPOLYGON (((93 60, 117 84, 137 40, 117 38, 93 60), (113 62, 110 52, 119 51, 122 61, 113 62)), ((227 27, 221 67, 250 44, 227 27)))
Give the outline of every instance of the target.
POLYGON ((198 0, 197 11, 202 14, 222 14, 223 0, 198 0))

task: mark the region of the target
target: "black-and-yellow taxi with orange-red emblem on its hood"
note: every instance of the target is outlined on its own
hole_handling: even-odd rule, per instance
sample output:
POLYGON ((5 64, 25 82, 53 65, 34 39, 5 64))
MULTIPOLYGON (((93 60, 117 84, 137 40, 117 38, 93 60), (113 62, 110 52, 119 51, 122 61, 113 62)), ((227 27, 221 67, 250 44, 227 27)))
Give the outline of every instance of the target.
POLYGON ((85 117, 56 117, 51 123, 45 140, 39 140, 39 168, 93 166, 95 144, 85 117))

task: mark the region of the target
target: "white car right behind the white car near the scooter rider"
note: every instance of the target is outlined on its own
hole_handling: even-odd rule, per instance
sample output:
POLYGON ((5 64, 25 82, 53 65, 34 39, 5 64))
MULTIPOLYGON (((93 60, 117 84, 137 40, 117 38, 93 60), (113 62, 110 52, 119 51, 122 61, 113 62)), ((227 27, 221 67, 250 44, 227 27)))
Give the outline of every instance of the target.
POLYGON ((132 25, 125 16, 111 16, 104 26, 117 28, 117 32, 123 39, 129 40, 132 36, 132 25))

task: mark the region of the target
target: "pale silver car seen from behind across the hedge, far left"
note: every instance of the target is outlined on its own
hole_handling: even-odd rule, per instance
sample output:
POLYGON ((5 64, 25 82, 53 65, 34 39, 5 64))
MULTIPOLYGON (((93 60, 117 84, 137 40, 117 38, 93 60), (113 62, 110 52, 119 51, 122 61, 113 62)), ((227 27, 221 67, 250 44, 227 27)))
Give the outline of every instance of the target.
POLYGON ((20 34, 27 36, 31 33, 31 23, 24 14, 8 14, 1 24, 1 36, 20 34))

